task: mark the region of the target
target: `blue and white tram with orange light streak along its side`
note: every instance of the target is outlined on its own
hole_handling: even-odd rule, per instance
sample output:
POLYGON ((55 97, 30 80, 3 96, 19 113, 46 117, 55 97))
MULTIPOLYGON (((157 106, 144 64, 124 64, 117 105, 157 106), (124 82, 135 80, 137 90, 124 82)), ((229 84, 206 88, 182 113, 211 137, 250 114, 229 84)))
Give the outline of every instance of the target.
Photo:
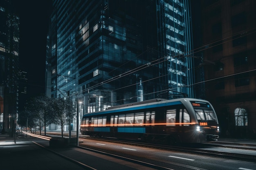
POLYGON ((218 139, 218 119, 206 100, 153 99, 83 115, 81 134, 153 143, 202 143, 218 139))

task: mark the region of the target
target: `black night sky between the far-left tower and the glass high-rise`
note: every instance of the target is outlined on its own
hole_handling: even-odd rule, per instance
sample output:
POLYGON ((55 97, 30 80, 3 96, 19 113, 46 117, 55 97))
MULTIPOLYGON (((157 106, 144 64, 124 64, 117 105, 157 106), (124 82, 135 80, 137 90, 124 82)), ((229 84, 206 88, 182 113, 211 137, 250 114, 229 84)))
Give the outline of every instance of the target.
POLYGON ((46 39, 51 0, 13 0, 20 16, 20 70, 27 72, 27 98, 45 92, 46 39))

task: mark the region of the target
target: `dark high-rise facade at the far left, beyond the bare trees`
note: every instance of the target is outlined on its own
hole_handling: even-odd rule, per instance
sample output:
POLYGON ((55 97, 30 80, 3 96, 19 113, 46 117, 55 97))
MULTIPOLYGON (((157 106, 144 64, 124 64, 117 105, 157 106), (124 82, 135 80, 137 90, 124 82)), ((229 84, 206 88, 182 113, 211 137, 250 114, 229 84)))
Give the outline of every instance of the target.
POLYGON ((0 130, 13 135, 18 112, 19 18, 10 1, 0 2, 0 130))

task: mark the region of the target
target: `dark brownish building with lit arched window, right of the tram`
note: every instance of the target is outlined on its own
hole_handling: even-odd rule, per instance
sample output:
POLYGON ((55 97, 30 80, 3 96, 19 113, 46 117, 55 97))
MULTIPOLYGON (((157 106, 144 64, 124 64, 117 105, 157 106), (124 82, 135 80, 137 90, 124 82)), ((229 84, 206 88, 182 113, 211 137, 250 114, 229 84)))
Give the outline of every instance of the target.
MULTIPOLYGON (((205 97, 221 135, 256 138, 256 2, 202 0, 205 97)), ((200 55, 199 54, 199 55, 200 55)))

